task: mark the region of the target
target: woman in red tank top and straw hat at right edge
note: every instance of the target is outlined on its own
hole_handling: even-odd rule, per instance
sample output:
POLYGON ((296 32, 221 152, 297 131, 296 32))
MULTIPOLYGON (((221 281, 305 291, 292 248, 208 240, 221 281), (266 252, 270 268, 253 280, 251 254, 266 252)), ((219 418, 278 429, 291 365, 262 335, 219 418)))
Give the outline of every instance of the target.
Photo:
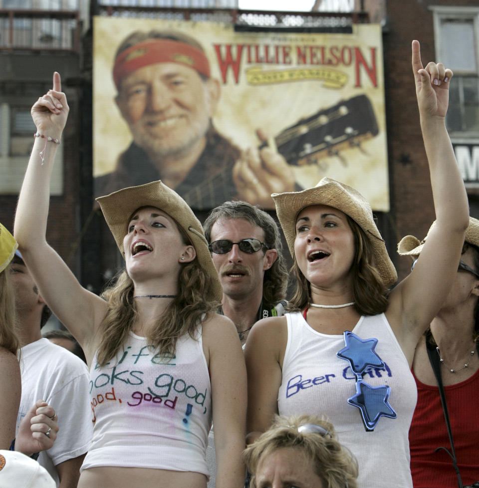
MULTIPOLYGON (((398 244, 400 255, 414 259, 413 270, 428 265, 420 256, 426 240, 406 236, 398 244)), ((469 487, 479 481, 478 297, 479 221, 470 217, 456 280, 414 354, 418 402, 409 443, 415 488, 469 487), (434 368, 444 386, 454 449, 434 368)))

